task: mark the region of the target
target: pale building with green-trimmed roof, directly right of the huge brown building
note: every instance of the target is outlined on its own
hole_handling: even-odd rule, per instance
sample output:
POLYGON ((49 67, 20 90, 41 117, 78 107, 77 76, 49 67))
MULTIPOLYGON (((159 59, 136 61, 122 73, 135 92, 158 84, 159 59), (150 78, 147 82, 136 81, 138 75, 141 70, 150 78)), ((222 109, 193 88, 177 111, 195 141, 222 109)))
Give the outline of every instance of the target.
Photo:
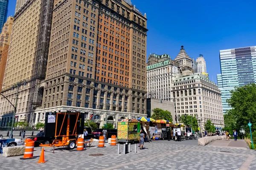
POLYGON ((173 77, 180 77, 179 64, 168 54, 150 54, 147 66, 147 98, 170 101, 173 77))

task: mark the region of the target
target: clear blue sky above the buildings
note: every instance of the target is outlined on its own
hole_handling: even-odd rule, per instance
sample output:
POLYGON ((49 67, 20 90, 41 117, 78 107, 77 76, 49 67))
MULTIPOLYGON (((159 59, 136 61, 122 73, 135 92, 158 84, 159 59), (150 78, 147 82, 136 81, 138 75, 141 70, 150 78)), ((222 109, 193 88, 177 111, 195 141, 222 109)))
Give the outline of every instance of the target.
MULTIPOLYGON (((217 82, 219 50, 256 45, 255 0, 131 0, 147 14, 147 55, 174 59, 183 45, 196 59, 203 54, 209 78, 217 82)), ((9 0, 8 16, 16 0, 9 0)))

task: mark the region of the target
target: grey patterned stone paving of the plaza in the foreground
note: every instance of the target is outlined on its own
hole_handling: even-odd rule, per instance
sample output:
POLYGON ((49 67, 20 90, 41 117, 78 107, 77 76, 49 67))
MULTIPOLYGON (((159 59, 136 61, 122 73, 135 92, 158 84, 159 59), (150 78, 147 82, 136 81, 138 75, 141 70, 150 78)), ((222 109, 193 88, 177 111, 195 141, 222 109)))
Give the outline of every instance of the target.
MULTIPOLYGON (((145 143, 145 149, 134 144, 131 153, 117 154, 117 145, 89 147, 86 151, 65 150, 44 147, 44 164, 36 159, 20 160, 22 156, 5 158, 0 155, 3 170, 255 170, 256 152, 247 148, 228 148, 198 146, 197 140, 183 142, 153 141, 145 143), (90 154, 104 156, 89 156, 90 154)), ((123 145, 120 152, 123 151, 123 145)), ((40 156, 40 147, 36 147, 34 156, 40 156)))

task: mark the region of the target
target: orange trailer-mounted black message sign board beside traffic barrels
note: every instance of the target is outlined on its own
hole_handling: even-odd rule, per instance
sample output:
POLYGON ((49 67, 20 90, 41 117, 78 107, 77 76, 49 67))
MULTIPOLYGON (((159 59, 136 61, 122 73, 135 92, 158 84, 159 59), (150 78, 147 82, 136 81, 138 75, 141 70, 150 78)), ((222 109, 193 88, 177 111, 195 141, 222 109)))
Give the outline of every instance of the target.
MULTIPOLYGON (((52 144, 40 144, 39 146, 66 146, 69 150, 74 149, 77 136, 83 134, 84 113, 47 113, 45 117, 44 136, 54 136, 55 139, 52 144)), ((86 142, 92 142, 92 139, 86 142)))

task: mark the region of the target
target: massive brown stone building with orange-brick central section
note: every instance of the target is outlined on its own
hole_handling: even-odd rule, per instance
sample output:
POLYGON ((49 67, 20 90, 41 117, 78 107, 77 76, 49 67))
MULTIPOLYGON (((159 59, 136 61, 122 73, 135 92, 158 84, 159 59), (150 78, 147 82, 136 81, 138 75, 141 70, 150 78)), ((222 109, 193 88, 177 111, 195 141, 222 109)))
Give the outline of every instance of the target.
POLYGON ((130 0, 54 1, 43 105, 106 121, 146 114, 146 15, 130 0))

